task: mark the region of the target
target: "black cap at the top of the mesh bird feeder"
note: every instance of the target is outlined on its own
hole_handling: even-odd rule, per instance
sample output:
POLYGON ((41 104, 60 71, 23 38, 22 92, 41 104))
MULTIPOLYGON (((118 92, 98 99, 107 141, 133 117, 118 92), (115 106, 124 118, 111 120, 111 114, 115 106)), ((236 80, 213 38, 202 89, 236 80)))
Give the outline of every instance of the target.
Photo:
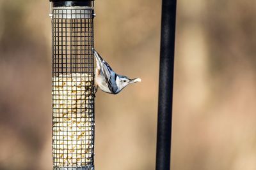
POLYGON ((71 7, 71 6, 92 6, 93 0, 76 0, 76 1, 63 1, 63 0, 50 0, 53 7, 71 7))

